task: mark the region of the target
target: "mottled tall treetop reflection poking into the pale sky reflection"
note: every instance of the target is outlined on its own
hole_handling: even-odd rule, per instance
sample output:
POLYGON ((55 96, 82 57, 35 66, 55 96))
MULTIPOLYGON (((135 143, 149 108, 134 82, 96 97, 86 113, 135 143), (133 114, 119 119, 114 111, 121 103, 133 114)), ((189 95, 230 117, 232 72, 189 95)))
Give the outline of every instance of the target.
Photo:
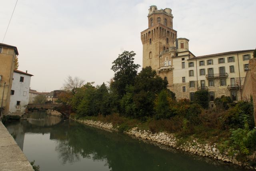
POLYGON ((62 163, 74 163, 80 161, 80 155, 75 151, 74 147, 68 144, 68 141, 58 141, 58 145, 55 147, 55 151, 58 152, 58 158, 62 159, 62 163))

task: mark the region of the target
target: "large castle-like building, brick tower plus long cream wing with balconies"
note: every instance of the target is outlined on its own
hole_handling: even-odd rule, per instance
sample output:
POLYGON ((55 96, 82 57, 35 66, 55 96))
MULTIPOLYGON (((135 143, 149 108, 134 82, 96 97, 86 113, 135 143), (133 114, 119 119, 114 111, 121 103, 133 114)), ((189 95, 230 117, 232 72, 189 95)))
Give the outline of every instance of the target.
POLYGON ((172 10, 150 6, 148 29, 141 32, 143 67, 151 66, 168 80, 168 89, 177 99, 193 100, 194 92, 207 90, 210 107, 216 97, 242 99, 242 89, 249 60, 254 50, 240 50, 195 56, 189 50, 189 40, 177 38, 173 29, 172 10))

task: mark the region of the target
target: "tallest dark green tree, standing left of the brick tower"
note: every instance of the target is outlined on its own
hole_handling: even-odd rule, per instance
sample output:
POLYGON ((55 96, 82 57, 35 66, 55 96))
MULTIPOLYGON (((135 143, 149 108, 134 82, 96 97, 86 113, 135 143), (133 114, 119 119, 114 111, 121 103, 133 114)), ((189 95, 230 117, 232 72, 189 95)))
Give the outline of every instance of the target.
POLYGON ((111 70, 115 72, 115 76, 110 86, 117 91, 119 98, 126 93, 126 85, 134 85, 134 79, 140 67, 139 64, 134 64, 135 55, 133 51, 124 51, 112 62, 111 70))

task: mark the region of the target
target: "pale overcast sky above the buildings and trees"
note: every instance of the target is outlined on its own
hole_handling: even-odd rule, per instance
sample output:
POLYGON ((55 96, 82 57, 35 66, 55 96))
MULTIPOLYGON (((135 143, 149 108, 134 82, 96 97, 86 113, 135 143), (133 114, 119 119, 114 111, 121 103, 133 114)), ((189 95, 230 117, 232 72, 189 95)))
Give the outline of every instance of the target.
MULTIPOLYGON (((1 42, 15 3, 0 0, 1 42)), ((256 48, 256 0, 18 0, 4 43, 18 48, 32 89, 60 89, 68 75, 106 83, 124 50, 142 65, 151 5, 172 9, 178 38, 196 56, 256 48)))

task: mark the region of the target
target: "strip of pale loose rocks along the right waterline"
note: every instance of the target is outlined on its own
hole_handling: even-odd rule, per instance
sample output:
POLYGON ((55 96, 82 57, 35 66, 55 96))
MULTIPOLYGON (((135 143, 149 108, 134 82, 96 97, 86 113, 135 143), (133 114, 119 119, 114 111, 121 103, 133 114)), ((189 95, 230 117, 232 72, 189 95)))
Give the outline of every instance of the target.
MULTIPOLYGON (((103 123, 100 121, 93 121, 93 120, 87 120, 87 119, 86 120, 74 119, 74 120, 87 125, 94 125, 96 127, 100 127, 103 129, 117 131, 117 129, 113 127, 112 123, 103 123)), ((248 169, 256 169, 256 167, 253 168, 248 163, 242 163, 237 161, 235 159, 235 156, 238 155, 237 153, 233 157, 228 155, 228 151, 224 151, 223 153, 221 153, 220 150, 217 148, 216 143, 212 145, 210 145, 209 143, 202 144, 202 143, 198 143, 196 139, 194 139, 194 140, 186 141, 182 144, 179 144, 178 139, 172 133, 166 133, 166 132, 152 133, 150 131, 145 131, 145 130, 142 131, 138 127, 134 127, 126 131, 125 133, 140 139, 154 141, 156 143, 167 145, 169 147, 190 152, 199 156, 212 157, 214 159, 218 159, 228 163, 234 163, 236 165, 240 165, 248 169)))

